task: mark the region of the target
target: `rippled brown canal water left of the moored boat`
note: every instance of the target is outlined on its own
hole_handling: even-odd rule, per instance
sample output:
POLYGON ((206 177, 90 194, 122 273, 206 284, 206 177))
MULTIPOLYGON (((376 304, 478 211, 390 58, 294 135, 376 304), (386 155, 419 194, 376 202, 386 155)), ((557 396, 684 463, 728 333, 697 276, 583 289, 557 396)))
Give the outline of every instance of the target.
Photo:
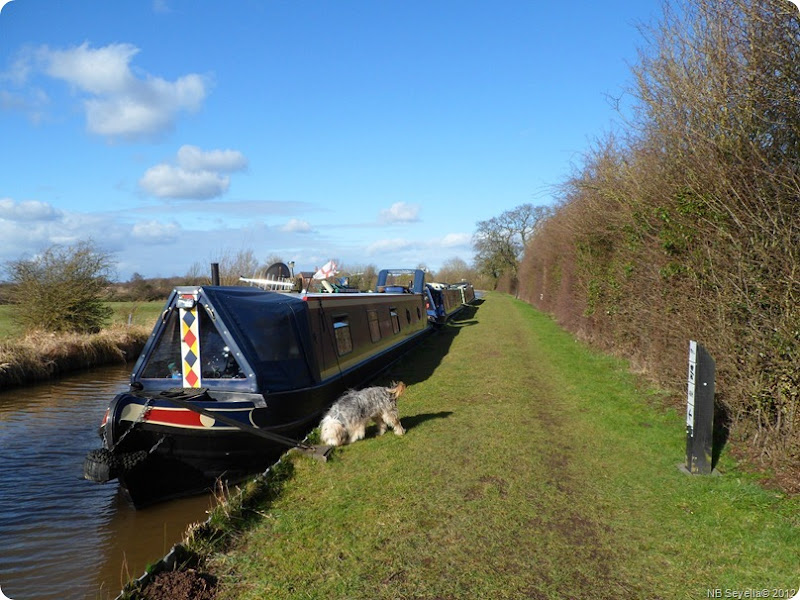
POLYGON ((0 589, 13 600, 115 598, 204 521, 210 495, 134 510, 116 481, 83 479, 97 426, 130 367, 0 392, 0 589))

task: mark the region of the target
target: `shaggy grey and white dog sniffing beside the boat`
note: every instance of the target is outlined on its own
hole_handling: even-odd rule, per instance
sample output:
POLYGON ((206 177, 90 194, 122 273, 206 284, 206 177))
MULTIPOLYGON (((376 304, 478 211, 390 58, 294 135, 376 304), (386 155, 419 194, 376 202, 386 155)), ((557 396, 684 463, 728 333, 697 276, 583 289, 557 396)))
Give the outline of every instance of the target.
POLYGON ((378 434, 386 433, 390 426, 395 435, 406 430, 400 424, 397 399, 406 385, 392 382, 392 387, 370 387, 363 390, 348 390, 339 398, 320 423, 322 443, 331 446, 351 444, 364 439, 370 420, 378 425, 378 434))

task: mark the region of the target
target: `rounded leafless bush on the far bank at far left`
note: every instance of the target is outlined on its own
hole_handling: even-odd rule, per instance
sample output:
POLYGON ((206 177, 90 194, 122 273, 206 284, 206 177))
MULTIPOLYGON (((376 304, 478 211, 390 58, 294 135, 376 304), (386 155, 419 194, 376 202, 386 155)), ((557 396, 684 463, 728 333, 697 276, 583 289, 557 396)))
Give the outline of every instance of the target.
POLYGON ((99 331, 112 313, 105 304, 112 265, 110 254, 91 241, 7 262, 15 318, 28 331, 99 331))

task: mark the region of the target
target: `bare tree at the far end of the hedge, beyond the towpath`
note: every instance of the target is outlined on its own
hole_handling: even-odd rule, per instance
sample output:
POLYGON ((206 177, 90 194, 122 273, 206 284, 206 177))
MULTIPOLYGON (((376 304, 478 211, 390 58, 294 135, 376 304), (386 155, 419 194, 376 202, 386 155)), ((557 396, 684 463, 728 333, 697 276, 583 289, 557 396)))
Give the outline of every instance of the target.
POLYGON ((550 214, 546 206, 522 204, 498 217, 477 223, 473 247, 478 271, 492 279, 494 286, 502 277, 516 286, 519 261, 531 235, 550 214))

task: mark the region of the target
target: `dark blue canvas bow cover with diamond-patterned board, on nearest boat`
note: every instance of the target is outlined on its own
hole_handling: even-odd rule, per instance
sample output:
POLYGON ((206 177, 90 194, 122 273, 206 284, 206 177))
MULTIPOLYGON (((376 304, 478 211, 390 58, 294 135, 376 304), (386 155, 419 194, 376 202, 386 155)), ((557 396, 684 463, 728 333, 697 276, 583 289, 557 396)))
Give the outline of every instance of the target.
POLYGON ((199 378, 203 387, 261 393, 309 387, 318 370, 307 313, 299 296, 258 288, 175 288, 132 381, 160 389, 182 376, 184 387, 199 378))

